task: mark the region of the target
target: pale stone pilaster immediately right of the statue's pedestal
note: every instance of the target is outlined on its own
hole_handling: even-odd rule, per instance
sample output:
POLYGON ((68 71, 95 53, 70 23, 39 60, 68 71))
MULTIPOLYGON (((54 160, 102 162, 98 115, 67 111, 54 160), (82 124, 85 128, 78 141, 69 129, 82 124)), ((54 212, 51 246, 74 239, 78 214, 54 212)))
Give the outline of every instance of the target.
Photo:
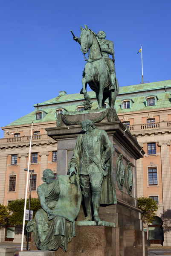
MULTIPOLYGON (((143 148, 144 144, 139 143, 143 148)), ((136 182, 137 182, 137 197, 144 196, 144 182, 143 182, 143 163, 142 158, 136 160, 136 182)))

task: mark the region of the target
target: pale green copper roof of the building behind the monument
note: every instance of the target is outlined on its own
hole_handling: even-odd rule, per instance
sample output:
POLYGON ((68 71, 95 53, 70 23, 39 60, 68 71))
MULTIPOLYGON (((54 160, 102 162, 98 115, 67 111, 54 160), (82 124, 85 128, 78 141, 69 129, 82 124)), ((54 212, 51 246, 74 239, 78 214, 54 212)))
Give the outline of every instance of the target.
MULTIPOLYGON (((171 80, 120 87, 119 95, 116 98, 115 103, 116 111, 117 113, 128 113, 130 111, 132 112, 151 110, 157 108, 169 108, 171 107, 171 89, 169 90, 169 87, 171 87, 171 80), (163 90, 159 90, 160 88, 162 88, 163 90), (149 91, 148 93, 148 90, 153 91, 149 91), (156 101, 156 105, 150 107, 145 106, 145 97, 148 95, 157 96, 158 100, 156 101), (122 99, 126 98, 131 99, 133 101, 131 108, 121 109, 122 99)), ((93 91, 88 92, 88 94, 91 98, 96 98, 96 94, 93 91)), ((11 122, 9 125, 6 126, 25 125, 30 124, 32 121, 34 123, 55 121, 55 110, 57 108, 64 108, 64 110, 66 111, 75 111, 78 105, 82 105, 82 101, 84 101, 84 97, 80 93, 58 96, 38 104, 38 110, 43 110, 47 113, 45 114, 43 119, 35 120, 35 112, 38 111, 36 108, 35 111, 32 111, 26 116, 22 116, 20 119, 17 119, 16 121, 11 122)), ((34 106, 36 107, 37 105, 35 104, 34 106)), ((97 102, 93 102, 92 104, 92 109, 95 108, 98 108, 97 102)))

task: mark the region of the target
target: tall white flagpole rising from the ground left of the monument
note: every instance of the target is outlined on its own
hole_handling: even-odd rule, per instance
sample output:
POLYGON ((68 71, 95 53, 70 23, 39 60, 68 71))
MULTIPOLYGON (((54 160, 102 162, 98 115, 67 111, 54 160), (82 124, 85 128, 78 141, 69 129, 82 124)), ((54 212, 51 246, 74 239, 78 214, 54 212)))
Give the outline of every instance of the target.
MULTIPOLYGON (((33 129, 33 122, 32 122, 32 129, 33 129)), ((31 129, 31 136, 30 136, 29 162, 28 162, 28 170, 27 170, 26 196, 25 196, 25 204, 24 204, 24 216, 23 216, 23 231, 22 231, 22 239, 21 239, 21 252, 23 251, 23 241, 24 241, 24 226, 25 226, 25 217, 26 217, 27 190, 28 190, 28 183, 29 183, 30 153, 31 153, 31 145, 32 145, 32 129, 31 129)))

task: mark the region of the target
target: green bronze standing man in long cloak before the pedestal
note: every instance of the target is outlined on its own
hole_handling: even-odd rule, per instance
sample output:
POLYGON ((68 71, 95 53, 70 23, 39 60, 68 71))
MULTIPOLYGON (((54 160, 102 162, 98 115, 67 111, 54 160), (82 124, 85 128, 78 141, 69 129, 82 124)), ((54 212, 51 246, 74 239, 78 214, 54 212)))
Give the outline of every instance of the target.
POLYGON ((104 130, 98 130, 93 122, 81 122, 84 134, 79 134, 69 164, 70 176, 79 175, 86 207, 85 221, 100 221, 100 204, 116 204, 111 155, 113 145, 104 130))

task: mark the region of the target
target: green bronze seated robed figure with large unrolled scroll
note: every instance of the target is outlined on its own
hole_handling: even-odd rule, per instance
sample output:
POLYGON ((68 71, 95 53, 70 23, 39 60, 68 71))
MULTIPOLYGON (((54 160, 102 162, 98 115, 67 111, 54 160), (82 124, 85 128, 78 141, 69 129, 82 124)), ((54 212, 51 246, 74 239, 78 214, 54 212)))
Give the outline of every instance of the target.
POLYGON ((79 177, 57 175, 51 169, 43 172, 44 183, 38 186, 37 193, 41 209, 35 219, 29 221, 26 230, 33 231, 35 244, 39 250, 67 251, 68 243, 75 236, 75 218, 81 205, 79 177))

